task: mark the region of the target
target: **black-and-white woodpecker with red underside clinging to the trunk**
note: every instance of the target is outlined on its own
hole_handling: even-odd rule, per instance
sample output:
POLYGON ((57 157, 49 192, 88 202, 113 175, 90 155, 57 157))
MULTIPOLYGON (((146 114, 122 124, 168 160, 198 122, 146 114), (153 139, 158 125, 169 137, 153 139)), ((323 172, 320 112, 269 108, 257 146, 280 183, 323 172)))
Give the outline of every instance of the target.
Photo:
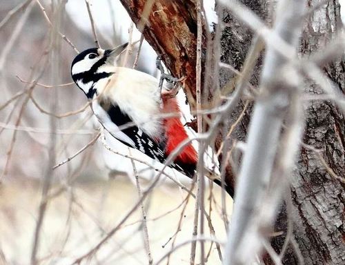
MULTIPOLYGON (((128 43, 114 49, 90 48, 72 61, 75 84, 92 101, 92 110, 112 137, 164 164, 179 144, 188 139, 179 117, 159 119, 161 113, 179 113, 169 88, 159 79, 132 68, 116 66, 128 43), (162 97, 162 95, 165 95, 162 97)), ((193 178, 197 152, 188 144, 169 166, 193 178)), ((219 180, 215 182, 219 184, 219 180)))

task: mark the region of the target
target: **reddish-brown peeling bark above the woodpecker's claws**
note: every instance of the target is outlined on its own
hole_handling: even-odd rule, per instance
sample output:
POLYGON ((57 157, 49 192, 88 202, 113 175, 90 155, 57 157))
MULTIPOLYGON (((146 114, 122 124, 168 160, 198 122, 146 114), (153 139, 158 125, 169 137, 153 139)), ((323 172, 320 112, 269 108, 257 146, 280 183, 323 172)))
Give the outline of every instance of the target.
MULTIPOLYGON (((187 95, 195 98, 197 12, 194 0, 155 0, 147 20, 142 17, 147 0, 121 0, 137 28, 161 55, 175 77, 186 77, 187 95), (146 26, 143 28, 143 25, 146 26)), ((190 101, 193 104, 193 101, 190 101)), ((193 108, 193 106, 192 106, 193 108)))

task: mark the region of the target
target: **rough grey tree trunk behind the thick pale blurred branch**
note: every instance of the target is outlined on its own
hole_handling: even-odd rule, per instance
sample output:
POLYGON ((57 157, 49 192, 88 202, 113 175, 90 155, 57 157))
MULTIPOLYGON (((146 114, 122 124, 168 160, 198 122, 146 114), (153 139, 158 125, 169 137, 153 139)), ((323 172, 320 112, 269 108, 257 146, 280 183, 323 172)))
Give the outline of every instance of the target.
MULTIPOLYGON (((319 1, 308 1, 313 8, 319 1)), ((270 1, 242 1, 254 10, 259 17, 272 20, 270 1)), ((306 17, 300 52, 308 57, 313 52, 322 50, 326 44, 336 37, 335 32, 342 30, 339 1, 330 1, 319 8, 311 16, 306 17)), ((223 21, 228 23, 221 34, 221 61, 229 63, 241 70, 242 63, 252 38, 251 32, 232 14, 225 12, 223 21)), ((255 75, 251 81, 257 84, 259 79, 259 61, 255 75)), ((345 92, 344 57, 324 66, 324 71, 339 90, 345 92)), ((221 72, 220 81, 228 80, 228 71, 221 72)), ((321 90, 310 84, 306 91, 318 95, 321 90)), ((240 107, 240 106, 239 106, 240 107)), ((241 111, 239 108, 238 112, 241 111)), ((337 174, 345 176, 345 121, 342 113, 331 101, 309 101, 305 106, 306 132, 304 143, 321 150, 326 163, 337 174)), ((233 117, 236 119, 237 115, 233 117)), ((247 116, 248 117, 248 116, 247 116)), ((246 132, 247 120, 237 128, 233 138, 242 140, 246 132)), ((344 230, 344 182, 332 177, 323 166, 319 157, 310 148, 303 148, 291 185, 293 199, 293 235, 304 257, 305 264, 344 264, 345 263, 345 230, 344 230)), ((273 237, 272 245, 279 253, 284 244, 287 227, 287 214, 282 206, 276 231, 284 231, 283 235, 273 237)), ((273 264, 269 257, 266 264, 273 264)), ((298 264, 297 255, 290 246, 283 258, 283 264, 298 264)))

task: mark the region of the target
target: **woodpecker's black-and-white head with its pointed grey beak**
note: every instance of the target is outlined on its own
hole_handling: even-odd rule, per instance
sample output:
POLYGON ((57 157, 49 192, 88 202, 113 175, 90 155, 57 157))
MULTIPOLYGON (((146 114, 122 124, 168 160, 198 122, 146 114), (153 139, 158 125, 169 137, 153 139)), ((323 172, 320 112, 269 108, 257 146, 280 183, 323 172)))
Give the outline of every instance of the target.
POLYGON ((113 65, 115 59, 127 46, 128 43, 109 50, 90 48, 80 52, 75 57, 70 68, 72 79, 85 92, 87 97, 93 97, 95 94, 93 85, 97 81, 112 75, 112 72, 104 70, 104 66, 113 65))

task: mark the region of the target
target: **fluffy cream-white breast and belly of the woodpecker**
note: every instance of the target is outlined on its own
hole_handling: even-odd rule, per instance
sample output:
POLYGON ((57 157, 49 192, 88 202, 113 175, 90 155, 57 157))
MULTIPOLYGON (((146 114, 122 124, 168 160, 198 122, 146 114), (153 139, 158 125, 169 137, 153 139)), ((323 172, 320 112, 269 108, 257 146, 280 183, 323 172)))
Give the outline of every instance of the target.
POLYGON ((115 71, 95 85, 100 99, 117 106, 144 133, 159 139, 164 132, 158 80, 130 68, 115 71))

